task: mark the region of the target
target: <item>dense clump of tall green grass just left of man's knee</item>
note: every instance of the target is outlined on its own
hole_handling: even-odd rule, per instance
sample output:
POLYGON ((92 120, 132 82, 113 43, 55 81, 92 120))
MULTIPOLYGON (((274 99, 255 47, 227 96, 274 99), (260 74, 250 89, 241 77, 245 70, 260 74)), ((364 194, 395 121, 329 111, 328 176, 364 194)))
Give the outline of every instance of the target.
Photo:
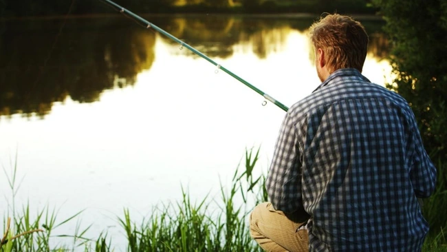
POLYGON ((256 154, 246 151, 245 171, 238 169, 228 191, 221 185, 220 200, 209 197, 193 203, 182 189, 182 202, 157 209, 142 223, 131 221, 124 210, 120 223, 127 234, 127 251, 260 251, 248 233, 248 214, 263 191, 257 186, 262 177, 253 178, 256 154))

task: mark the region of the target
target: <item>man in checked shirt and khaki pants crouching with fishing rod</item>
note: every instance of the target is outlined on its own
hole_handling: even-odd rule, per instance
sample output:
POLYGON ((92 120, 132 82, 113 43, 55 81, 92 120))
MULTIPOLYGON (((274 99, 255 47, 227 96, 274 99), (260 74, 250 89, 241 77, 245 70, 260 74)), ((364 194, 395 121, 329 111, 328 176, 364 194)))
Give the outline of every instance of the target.
POLYGON ((358 21, 329 14, 309 31, 322 83, 285 115, 252 238, 266 251, 420 251, 418 198, 436 169, 411 108, 362 76, 358 21))

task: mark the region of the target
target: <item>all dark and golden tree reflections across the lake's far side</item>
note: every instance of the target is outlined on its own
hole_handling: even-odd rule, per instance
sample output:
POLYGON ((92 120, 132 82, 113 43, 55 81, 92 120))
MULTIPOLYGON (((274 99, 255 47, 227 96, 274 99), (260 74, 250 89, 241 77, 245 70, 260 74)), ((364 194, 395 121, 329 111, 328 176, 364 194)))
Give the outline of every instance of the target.
MULTIPOLYGON (((219 15, 147 18, 204 54, 221 59, 231 57, 235 48, 265 59, 285 50, 290 33, 303 32, 313 21, 219 15)), ((121 16, 64 22, 1 23, 0 116, 43 118, 55 102, 68 96, 78 103, 98 101, 104 90, 133 85, 138 73, 151 68, 157 39, 174 44, 121 16)), ((380 23, 365 26, 373 34, 371 56, 385 56, 387 43, 378 32, 380 23)), ((186 51, 171 53, 197 57, 186 51)))

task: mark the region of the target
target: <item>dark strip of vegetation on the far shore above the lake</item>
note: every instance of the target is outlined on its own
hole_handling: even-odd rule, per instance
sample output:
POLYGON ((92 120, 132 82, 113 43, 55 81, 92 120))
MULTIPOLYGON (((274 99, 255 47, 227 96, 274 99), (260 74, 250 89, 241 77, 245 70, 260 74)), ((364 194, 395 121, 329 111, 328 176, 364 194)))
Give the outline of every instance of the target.
MULTIPOLYGON (((39 1, 38 1, 39 2, 39 1)), ((72 0, 61 3, 36 3, 32 0, 0 1, 1 18, 65 16, 67 14, 109 14, 117 12, 101 0, 72 0)), ((118 5, 136 14, 284 14, 309 13, 318 17, 323 12, 374 15, 367 0, 116 0, 118 5)))

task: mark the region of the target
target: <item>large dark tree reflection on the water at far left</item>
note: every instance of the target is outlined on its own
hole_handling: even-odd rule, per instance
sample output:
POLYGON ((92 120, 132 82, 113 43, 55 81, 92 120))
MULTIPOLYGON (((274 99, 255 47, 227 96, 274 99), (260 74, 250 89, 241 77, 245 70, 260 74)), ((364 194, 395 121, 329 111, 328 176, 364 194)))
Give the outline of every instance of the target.
POLYGON ((133 85, 154 60, 155 34, 121 19, 10 21, 1 35, 0 113, 45 116, 70 96, 98 101, 103 90, 133 85), (120 81, 114 81, 114 80, 120 81))

